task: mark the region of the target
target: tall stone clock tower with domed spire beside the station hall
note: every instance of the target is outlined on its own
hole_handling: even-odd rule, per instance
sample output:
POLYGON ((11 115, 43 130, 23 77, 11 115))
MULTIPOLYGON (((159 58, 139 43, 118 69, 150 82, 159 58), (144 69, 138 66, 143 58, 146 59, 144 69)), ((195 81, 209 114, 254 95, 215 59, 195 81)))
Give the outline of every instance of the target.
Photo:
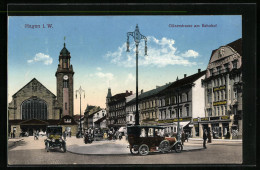
POLYGON ((59 64, 56 71, 57 81, 57 101, 62 108, 62 115, 73 116, 73 67, 70 64, 70 52, 64 43, 63 49, 60 51, 59 64))

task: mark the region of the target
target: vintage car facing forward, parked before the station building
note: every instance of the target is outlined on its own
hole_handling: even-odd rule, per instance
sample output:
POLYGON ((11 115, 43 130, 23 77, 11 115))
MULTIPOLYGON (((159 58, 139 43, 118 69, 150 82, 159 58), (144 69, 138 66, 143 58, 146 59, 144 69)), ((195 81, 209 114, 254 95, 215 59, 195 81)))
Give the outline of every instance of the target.
POLYGON ((62 127, 61 126, 48 126, 47 139, 45 142, 45 149, 49 152, 49 149, 59 148, 63 152, 66 152, 66 142, 62 139, 62 127))

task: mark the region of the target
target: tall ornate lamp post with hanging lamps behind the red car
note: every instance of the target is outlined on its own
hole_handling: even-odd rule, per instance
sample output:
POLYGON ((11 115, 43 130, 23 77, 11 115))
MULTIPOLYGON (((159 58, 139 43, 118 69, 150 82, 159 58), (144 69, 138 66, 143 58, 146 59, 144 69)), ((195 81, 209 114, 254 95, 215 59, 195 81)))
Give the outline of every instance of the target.
POLYGON ((142 39, 145 40, 145 55, 147 56, 147 38, 139 32, 138 25, 136 24, 134 32, 127 33, 126 52, 129 52, 129 36, 132 36, 136 46, 136 114, 135 125, 139 125, 139 113, 138 113, 138 45, 142 39))

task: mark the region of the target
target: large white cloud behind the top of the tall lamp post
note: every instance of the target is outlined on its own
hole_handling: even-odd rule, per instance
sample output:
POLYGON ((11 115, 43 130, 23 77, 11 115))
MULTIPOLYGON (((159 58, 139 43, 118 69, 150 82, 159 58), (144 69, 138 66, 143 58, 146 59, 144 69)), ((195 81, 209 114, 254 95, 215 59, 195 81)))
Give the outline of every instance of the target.
MULTIPOLYGON (((199 53, 194 50, 188 50, 184 53, 177 52, 175 41, 163 37, 162 39, 156 39, 153 36, 147 37, 147 54, 144 56, 144 42, 139 44, 139 66, 156 66, 165 67, 167 65, 183 65, 192 66, 197 65, 196 62, 192 62, 190 59, 196 58, 199 53)), ((126 52, 126 43, 123 43, 117 48, 117 50, 107 52, 105 58, 110 60, 111 63, 117 64, 123 67, 135 67, 136 55, 135 55, 135 43, 130 42, 130 52, 126 52)))

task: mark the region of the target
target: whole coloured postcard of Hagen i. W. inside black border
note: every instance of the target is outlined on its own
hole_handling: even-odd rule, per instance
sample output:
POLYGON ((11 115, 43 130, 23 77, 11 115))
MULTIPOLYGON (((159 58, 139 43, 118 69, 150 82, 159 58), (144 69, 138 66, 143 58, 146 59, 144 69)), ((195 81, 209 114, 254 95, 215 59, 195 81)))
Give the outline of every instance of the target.
POLYGON ((8 16, 8 165, 242 164, 242 42, 242 15, 8 16))

